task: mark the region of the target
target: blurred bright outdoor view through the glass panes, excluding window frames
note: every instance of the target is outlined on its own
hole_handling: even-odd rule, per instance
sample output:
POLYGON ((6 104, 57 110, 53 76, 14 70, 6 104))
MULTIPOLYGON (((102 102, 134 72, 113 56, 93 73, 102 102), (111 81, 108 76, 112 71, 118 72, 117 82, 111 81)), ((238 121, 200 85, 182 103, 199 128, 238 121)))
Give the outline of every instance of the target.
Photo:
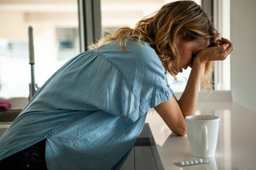
MULTIPOLYGON (((101 0, 101 34, 121 27, 134 28, 143 17, 169 2, 173 0, 101 0)), ((1 0, 0 23, 0 97, 28 97, 29 25, 33 27, 35 80, 39 87, 80 53, 77 0, 1 0)), ((168 75, 174 91, 184 90, 189 72, 190 68, 179 73, 177 83, 168 75)))

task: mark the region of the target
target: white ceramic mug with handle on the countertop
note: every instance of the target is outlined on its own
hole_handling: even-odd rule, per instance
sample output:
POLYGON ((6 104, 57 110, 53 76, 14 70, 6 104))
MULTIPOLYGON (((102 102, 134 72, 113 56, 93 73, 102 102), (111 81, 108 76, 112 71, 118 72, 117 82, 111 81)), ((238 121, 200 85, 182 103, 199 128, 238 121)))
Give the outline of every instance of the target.
POLYGON ((192 156, 211 158, 215 155, 220 118, 214 115, 194 115, 185 118, 192 156))

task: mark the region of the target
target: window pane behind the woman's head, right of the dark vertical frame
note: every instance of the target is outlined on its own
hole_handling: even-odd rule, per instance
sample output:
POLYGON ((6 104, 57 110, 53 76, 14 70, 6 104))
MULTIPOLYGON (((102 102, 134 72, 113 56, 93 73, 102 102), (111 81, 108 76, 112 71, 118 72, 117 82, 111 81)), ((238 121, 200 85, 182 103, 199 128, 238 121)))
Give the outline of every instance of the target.
MULTIPOLYGON (((121 27, 134 28, 143 17, 159 10, 163 5, 175 0, 101 0, 102 36, 105 30, 114 31, 121 27)), ((201 0, 195 0, 201 5, 201 0)), ((182 92, 187 84, 191 68, 179 72, 177 82, 168 73, 167 80, 174 92, 182 92)))

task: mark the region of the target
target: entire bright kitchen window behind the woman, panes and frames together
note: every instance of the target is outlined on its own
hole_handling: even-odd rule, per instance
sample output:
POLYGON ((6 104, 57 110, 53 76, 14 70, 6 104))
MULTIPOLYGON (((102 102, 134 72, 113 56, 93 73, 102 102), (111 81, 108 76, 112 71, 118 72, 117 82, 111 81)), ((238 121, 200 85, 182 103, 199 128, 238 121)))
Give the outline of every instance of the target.
MULTIPOLYGON (((3 24, 0 31, 0 98, 28 97, 28 84, 31 82, 30 65, 28 64, 28 26, 33 27, 35 81, 38 87, 41 87, 61 65, 79 54, 79 46, 80 50, 84 51, 84 46, 87 47, 89 44, 87 42, 98 40, 106 33, 105 30, 113 31, 121 27, 133 28, 141 18, 173 1, 1 1, 0 22, 3 24), (82 6, 82 3, 86 5, 82 6), (78 21, 79 6, 81 7, 79 8, 79 18, 86 14, 84 15, 85 20, 80 19, 80 23, 78 21), (83 7, 86 7, 87 12, 81 10, 83 7), (99 15, 100 8, 101 15, 99 15), (91 20, 91 15, 96 19, 91 20), (84 25, 81 22, 84 22, 84 25), (82 28, 78 30, 79 24, 82 28), (97 33, 100 30, 98 29, 100 25, 102 27, 101 34, 97 33), (92 28, 87 30, 90 26, 92 28), (96 31, 92 31, 93 29, 96 31), (86 39, 82 36, 83 33, 86 35, 84 36, 86 39)), ((223 37, 229 39, 230 2, 218 1, 217 3, 214 1, 210 5, 207 0, 202 0, 202 4, 201 0, 195 0, 195 2, 199 5, 210 6, 213 13, 218 14, 217 17, 214 16, 217 18, 215 28, 221 32, 223 37)), ((177 83, 174 82, 172 76, 167 75, 168 82, 175 92, 184 90, 189 73, 190 68, 179 73, 177 83)), ((230 57, 224 62, 215 62, 214 77, 215 90, 230 90, 230 57)))

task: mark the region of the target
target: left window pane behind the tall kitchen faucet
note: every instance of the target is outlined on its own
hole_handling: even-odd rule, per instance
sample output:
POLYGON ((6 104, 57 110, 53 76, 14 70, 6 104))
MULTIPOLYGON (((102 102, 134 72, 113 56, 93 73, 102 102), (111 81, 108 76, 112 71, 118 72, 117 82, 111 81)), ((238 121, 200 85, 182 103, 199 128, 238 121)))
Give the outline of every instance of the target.
POLYGON ((0 2, 0 97, 28 97, 28 27, 33 28, 35 82, 79 54, 77 0, 0 2))

